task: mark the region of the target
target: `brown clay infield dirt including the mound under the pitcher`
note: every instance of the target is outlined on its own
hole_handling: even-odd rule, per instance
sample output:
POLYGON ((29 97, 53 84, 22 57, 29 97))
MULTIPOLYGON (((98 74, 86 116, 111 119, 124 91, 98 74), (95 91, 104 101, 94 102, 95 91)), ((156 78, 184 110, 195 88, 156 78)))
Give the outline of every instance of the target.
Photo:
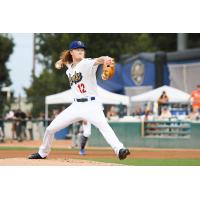
MULTIPOLYGON (((38 151, 40 141, 6 142, 0 145, 1 165, 30 166, 116 166, 91 160, 116 159, 111 148, 87 147, 87 155, 80 156, 78 149, 70 149, 70 141, 54 141, 53 150, 46 160, 29 160, 28 155, 38 151), (21 148, 21 149, 20 149, 21 148), (24 149, 23 149, 24 148, 24 149), (31 149, 35 148, 35 149, 31 149)), ((130 148, 128 159, 200 159, 200 149, 130 148)), ((120 163, 121 164, 121 163, 120 163)))

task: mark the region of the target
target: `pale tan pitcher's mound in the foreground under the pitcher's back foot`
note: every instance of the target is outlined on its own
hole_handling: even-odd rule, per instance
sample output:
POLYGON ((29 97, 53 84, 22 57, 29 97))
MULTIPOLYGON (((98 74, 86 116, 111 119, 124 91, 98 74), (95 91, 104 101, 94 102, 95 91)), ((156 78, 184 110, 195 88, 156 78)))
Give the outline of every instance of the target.
POLYGON ((102 163, 80 159, 43 159, 31 160, 27 158, 0 159, 0 166, 122 166, 115 163, 102 163))

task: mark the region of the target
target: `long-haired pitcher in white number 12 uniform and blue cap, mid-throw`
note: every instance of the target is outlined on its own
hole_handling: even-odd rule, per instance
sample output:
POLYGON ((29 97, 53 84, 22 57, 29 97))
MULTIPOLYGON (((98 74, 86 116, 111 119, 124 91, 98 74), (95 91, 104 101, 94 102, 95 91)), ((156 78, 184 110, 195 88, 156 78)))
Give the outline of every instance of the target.
POLYGON ((103 65, 102 79, 107 80, 114 74, 114 60, 108 56, 85 58, 85 52, 86 46, 83 42, 73 41, 69 50, 64 51, 60 60, 56 62, 57 69, 67 66, 66 74, 73 90, 74 102, 57 115, 46 128, 38 153, 30 155, 29 159, 46 158, 50 153, 54 133, 80 120, 86 120, 96 126, 120 160, 130 154, 108 124, 97 93, 98 66, 103 65))

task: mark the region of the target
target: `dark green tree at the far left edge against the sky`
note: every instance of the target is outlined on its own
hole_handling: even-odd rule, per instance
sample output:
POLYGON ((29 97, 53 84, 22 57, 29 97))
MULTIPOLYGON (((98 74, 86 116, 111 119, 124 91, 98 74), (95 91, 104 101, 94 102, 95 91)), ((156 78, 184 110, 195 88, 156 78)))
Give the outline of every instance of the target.
POLYGON ((5 98, 1 94, 3 86, 11 85, 9 70, 6 67, 10 55, 13 52, 14 43, 13 39, 6 34, 0 34, 0 115, 2 115, 5 105, 5 98))

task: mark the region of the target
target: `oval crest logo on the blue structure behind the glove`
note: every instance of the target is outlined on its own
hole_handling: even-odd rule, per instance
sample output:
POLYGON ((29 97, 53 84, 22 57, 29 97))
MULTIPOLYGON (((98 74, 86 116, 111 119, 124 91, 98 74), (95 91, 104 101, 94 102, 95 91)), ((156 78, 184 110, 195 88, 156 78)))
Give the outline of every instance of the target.
POLYGON ((137 60, 131 68, 131 77, 136 85, 141 85, 144 80, 144 64, 137 60))

